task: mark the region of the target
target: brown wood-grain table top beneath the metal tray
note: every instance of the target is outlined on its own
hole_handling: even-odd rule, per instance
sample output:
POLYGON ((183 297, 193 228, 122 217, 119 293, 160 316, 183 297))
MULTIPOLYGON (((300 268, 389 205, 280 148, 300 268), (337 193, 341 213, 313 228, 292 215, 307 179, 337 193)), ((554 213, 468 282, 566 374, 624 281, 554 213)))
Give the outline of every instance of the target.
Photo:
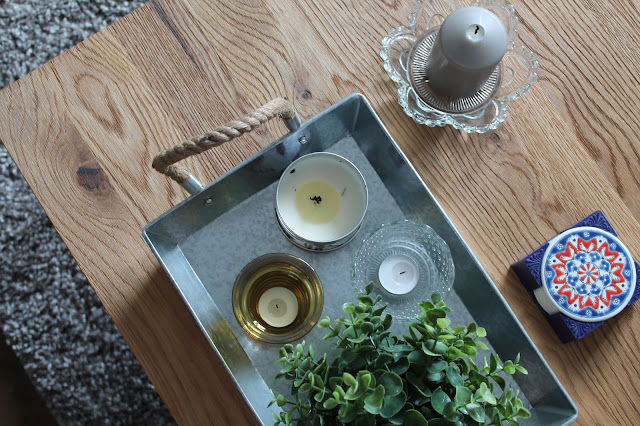
MULTIPOLYGON (((302 119, 360 92, 416 167, 579 408, 638 424, 640 305, 562 344, 509 265, 601 209, 640 259, 640 10, 515 1, 539 80, 496 131, 421 126, 379 56, 409 0, 154 0, 0 92, 7 146, 180 424, 253 423, 141 236, 187 194, 160 150, 284 96, 302 119)), ((203 182, 286 130, 186 165, 203 182)))

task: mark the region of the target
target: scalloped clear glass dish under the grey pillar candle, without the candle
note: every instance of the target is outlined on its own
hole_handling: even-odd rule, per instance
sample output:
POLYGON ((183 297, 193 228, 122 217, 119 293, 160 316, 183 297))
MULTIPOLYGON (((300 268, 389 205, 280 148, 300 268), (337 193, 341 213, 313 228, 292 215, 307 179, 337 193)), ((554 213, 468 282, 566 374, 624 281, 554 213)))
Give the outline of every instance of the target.
POLYGON ((417 123, 450 125, 468 133, 496 129, 507 118, 509 102, 527 92, 538 78, 538 61, 518 41, 515 8, 496 0, 417 0, 409 25, 382 40, 384 68, 398 84, 398 102, 417 123), (507 31, 507 50, 477 93, 463 98, 439 95, 428 84, 428 60, 438 30, 453 11, 478 6, 493 12, 507 31))

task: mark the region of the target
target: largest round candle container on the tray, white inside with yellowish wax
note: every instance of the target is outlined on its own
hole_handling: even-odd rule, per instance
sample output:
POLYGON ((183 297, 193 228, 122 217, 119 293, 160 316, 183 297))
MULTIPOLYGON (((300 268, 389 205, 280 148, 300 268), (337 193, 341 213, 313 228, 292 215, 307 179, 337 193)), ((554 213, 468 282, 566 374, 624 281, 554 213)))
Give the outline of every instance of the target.
POLYGON ((307 154, 285 169, 276 190, 276 217, 285 236, 310 251, 338 249, 355 237, 367 211, 367 184, 346 158, 307 154))

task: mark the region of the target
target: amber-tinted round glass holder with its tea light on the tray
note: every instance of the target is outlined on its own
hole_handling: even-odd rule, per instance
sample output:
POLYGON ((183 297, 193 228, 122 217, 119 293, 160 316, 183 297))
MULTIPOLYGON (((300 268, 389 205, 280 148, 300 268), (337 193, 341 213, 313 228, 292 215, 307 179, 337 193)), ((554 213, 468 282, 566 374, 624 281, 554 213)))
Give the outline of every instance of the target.
POLYGON ((324 291, 304 260, 271 253, 249 262, 238 274, 233 312, 242 329, 267 343, 286 343, 307 334, 318 322, 324 291))

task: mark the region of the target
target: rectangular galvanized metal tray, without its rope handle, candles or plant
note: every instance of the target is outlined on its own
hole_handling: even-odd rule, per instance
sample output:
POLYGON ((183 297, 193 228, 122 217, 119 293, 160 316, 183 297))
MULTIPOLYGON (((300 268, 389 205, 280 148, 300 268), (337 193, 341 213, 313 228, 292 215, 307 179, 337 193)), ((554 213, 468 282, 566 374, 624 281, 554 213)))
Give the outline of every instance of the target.
MULTIPOLYGON (((238 325, 231 308, 236 275, 262 254, 301 257, 318 272, 325 288, 322 316, 335 319, 344 302, 355 300, 349 283, 356 248, 380 224, 405 218, 431 226, 451 249, 456 278, 446 302, 453 309, 452 321, 473 320, 485 327, 490 349, 502 359, 521 354, 529 375, 517 374, 510 384, 521 390, 532 412, 522 423, 572 423, 577 417, 573 401, 362 95, 351 95, 309 119, 149 223, 143 234, 248 405, 269 424, 269 388, 287 392, 285 383, 274 380, 279 346, 252 340, 238 325), (300 143, 302 136, 306 143, 300 143), (351 160, 369 187, 360 232, 330 253, 295 247, 281 233, 274 212, 275 185, 284 169, 316 151, 351 160)), ((316 353, 328 349, 328 343, 320 341, 322 334, 314 329, 304 337, 316 353)))

